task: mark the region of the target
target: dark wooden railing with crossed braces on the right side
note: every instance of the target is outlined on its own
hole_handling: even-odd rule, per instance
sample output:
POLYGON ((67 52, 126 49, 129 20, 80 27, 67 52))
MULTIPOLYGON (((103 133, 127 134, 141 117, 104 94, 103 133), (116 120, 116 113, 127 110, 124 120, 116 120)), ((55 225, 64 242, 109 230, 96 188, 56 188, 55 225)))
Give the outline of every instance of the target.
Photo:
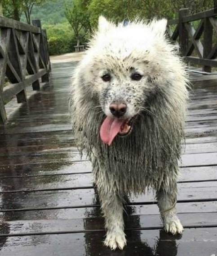
POLYGON ((193 15, 188 9, 180 9, 179 18, 168 20, 167 28, 186 61, 203 66, 205 72, 217 67, 217 36, 213 37, 217 32, 217 8, 193 15), (195 21, 197 27, 192 24, 195 21))

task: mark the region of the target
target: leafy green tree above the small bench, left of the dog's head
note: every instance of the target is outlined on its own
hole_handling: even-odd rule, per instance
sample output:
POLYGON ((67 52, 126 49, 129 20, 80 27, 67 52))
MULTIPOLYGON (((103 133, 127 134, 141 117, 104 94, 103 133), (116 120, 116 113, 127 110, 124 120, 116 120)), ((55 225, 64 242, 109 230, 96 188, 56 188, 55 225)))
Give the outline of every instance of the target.
POLYGON ((90 17, 88 5, 90 0, 74 0, 72 5, 65 5, 65 15, 70 23, 77 40, 77 46, 80 40, 91 32, 90 17))

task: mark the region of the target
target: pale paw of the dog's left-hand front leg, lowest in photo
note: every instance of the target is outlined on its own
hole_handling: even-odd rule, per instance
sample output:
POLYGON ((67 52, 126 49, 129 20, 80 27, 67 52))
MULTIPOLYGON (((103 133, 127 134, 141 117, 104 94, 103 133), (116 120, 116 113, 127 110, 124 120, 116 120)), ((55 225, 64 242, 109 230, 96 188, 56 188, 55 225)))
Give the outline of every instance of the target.
POLYGON ((106 234, 104 245, 110 247, 111 250, 115 250, 116 248, 122 250, 126 244, 127 240, 124 232, 108 232, 106 234))

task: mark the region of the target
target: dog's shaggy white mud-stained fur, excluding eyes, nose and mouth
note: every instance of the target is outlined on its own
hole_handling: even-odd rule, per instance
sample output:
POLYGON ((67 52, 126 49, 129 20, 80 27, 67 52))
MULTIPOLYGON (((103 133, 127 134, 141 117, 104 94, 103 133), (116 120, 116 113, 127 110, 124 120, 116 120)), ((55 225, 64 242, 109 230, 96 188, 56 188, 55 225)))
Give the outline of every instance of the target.
POLYGON ((164 229, 182 233, 176 215, 178 160, 184 137, 187 76, 184 65, 164 36, 166 21, 134 22, 116 27, 101 17, 72 80, 70 111, 80 151, 93 165, 94 182, 107 229, 105 245, 123 249, 125 195, 156 191, 164 229), (136 31, 136 32, 135 32, 136 31), (133 34, 134 33, 134 34, 133 34), (129 35, 129 36, 128 36, 129 35), (131 40, 131 41, 130 41, 131 40), (131 81, 134 69, 142 81, 131 81), (110 72, 112 81, 101 76, 110 72), (137 114, 133 131, 102 143, 99 130, 112 101, 128 104, 137 114))

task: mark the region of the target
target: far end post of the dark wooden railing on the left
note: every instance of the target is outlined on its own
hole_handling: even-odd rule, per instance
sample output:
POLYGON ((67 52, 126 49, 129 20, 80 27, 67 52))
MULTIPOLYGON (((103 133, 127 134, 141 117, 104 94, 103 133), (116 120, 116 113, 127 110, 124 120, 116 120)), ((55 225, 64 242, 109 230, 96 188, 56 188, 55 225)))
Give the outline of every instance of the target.
POLYGON ((40 53, 41 53, 41 57, 44 61, 44 64, 45 64, 45 68, 46 68, 46 71, 47 73, 44 74, 42 77, 41 77, 41 81, 42 82, 49 82, 49 67, 48 67, 48 58, 47 58, 47 53, 46 53, 46 46, 45 46, 45 42, 44 42, 44 36, 43 36, 43 30, 41 28, 41 22, 40 22, 40 19, 35 19, 32 21, 32 24, 35 26, 35 27, 39 27, 40 28, 40 53))

